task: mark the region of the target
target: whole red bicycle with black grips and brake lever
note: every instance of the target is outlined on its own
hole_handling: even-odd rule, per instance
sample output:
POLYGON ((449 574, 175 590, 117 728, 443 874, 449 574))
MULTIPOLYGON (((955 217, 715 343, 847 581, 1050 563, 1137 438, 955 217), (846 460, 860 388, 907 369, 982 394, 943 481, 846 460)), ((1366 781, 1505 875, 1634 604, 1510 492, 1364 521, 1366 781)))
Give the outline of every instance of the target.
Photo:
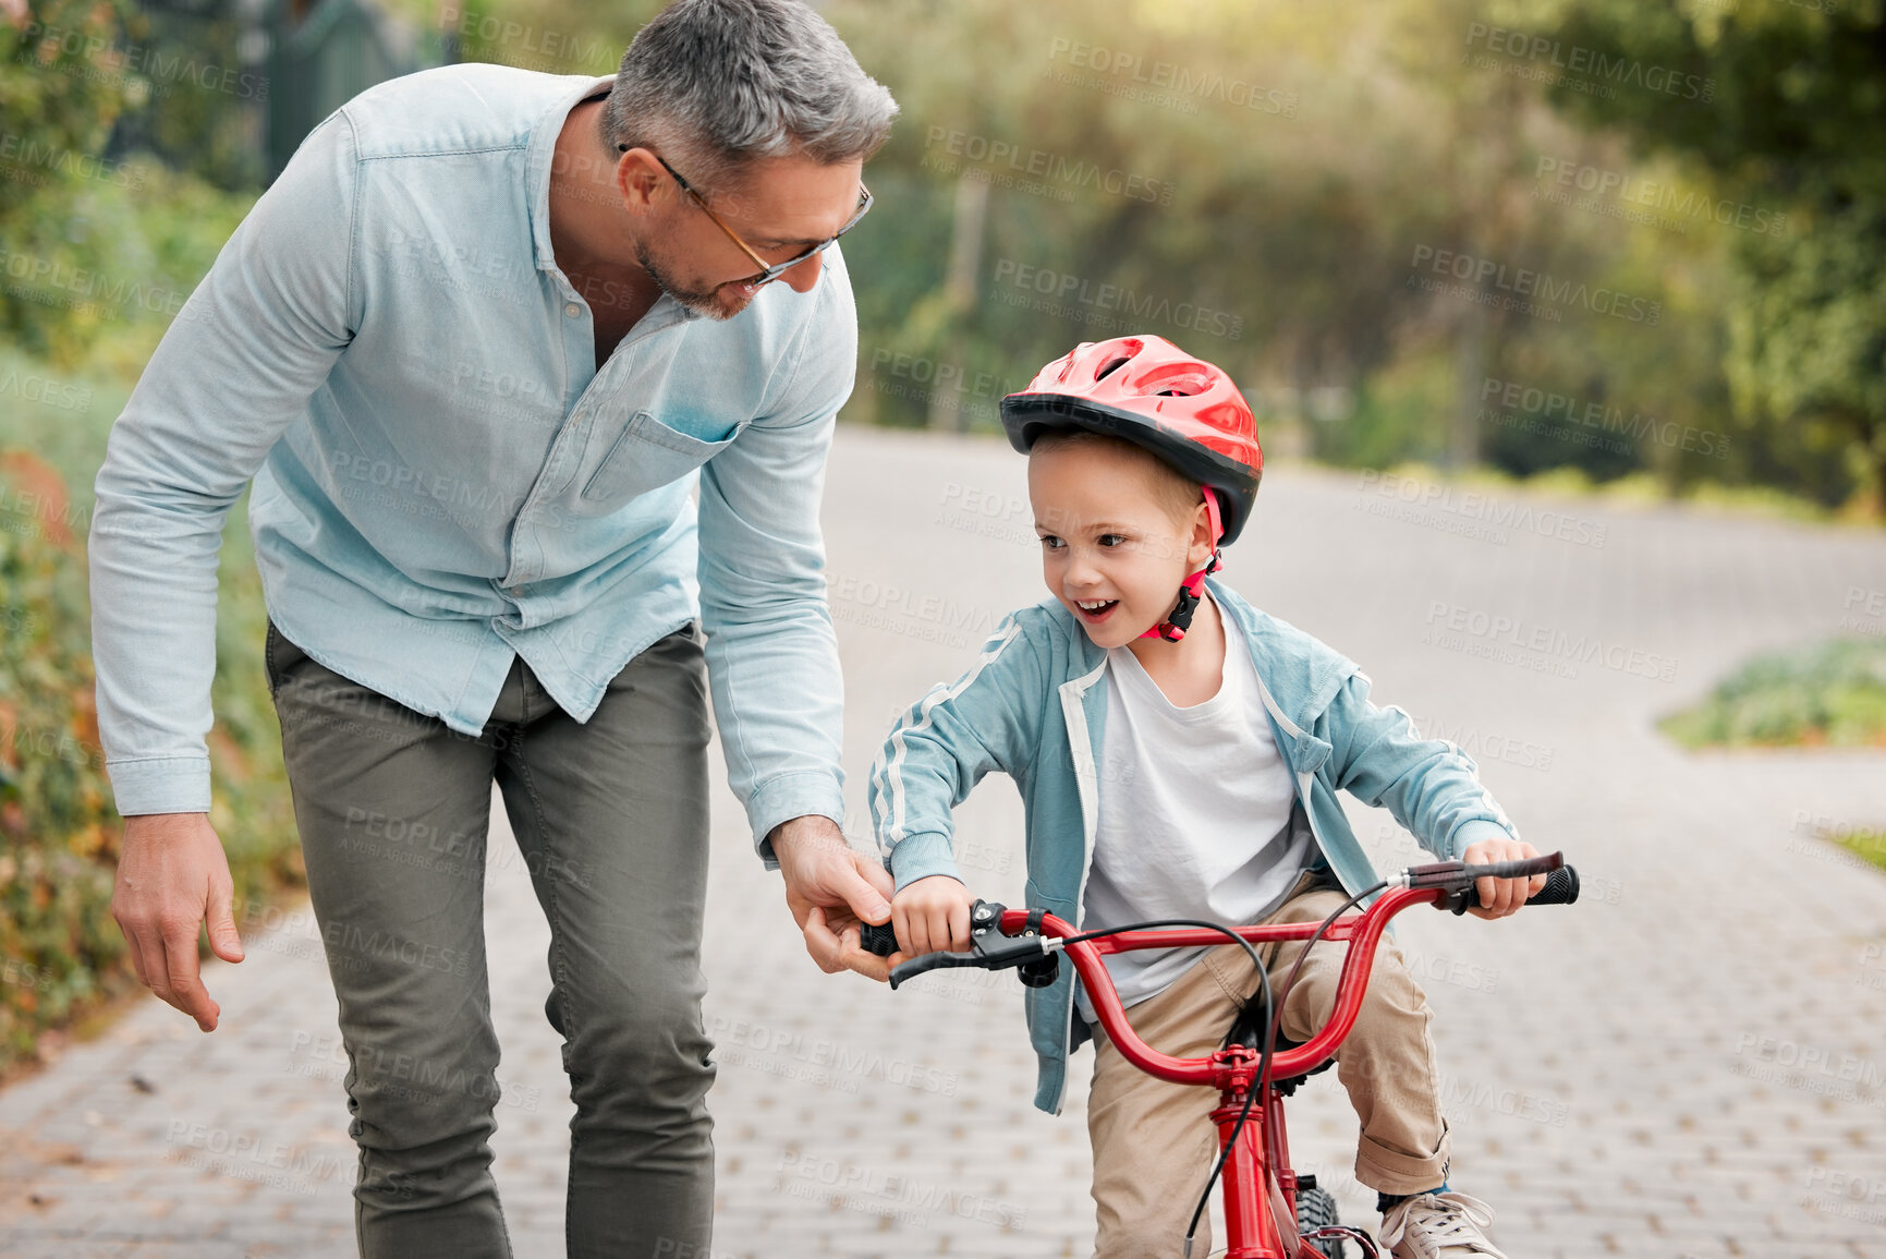
MULTIPOLYGON (((969 912, 969 951, 924 953, 890 970, 890 987, 928 970, 949 966, 981 966, 984 970, 1018 968, 1028 987, 1047 987, 1060 974, 1060 955, 1066 953, 1086 985, 1094 1014, 1120 1055, 1139 1070, 1173 1083, 1209 1083, 1218 1089, 1218 1104, 1211 1112, 1218 1127, 1218 1163, 1205 1182, 1205 1193, 1192 1212, 1186 1229, 1184 1255, 1190 1259, 1192 1236, 1199 1216, 1211 1200, 1213 1185, 1224 1182, 1224 1259, 1343 1259, 1343 1242, 1352 1240, 1369 1259, 1379 1259, 1375 1240, 1360 1229, 1345 1227, 1335 1214, 1335 1199, 1316 1187, 1315 1176, 1298 1176, 1290 1168, 1290 1142, 1284 1133, 1282 1099, 1311 1074, 1328 1068, 1337 1048, 1348 1036, 1362 1010, 1369 985, 1375 946, 1388 919, 1414 904, 1433 904, 1441 910, 1465 914, 1479 904, 1475 881, 1482 878, 1530 878, 1547 874, 1547 885, 1526 904, 1571 904, 1579 898, 1579 872, 1565 865, 1562 853, 1465 865, 1441 861, 1409 866, 1392 880, 1382 880, 1348 898, 1320 925, 1277 923, 1258 927, 1226 927, 1198 919, 1158 919, 1075 931, 1067 921, 1045 910, 1011 910, 1003 904, 977 900, 969 912), (1345 917, 1350 908, 1375 893, 1384 893, 1367 910, 1345 917), (1113 976, 1101 961, 1107 953, 1132 949, 1198 948, 1232 938, 1245 946, 1258 968, 1260 997, 1226 1034, 1226 1044, 1211 1057, 1179 1059, 1160 1053, 1135 1032, 1126 1019, 1126 1008, 1113 987, 1113 976), (1309 948, 1318 940, 1348 944, 1337 980, 1335 1004, 1330 1021, 1303 1044, 1279 1044, 1277 1027, 1282 1021, 1282 999, 1296 982, 1309 948), (1284 976, 1275 995, 1252 944, 1277 940, 1309 940, 1296 966, 1284 976), (1358 948, 1360 946, 1360 948, 1358 948), (1264 1027, 1262 1044, 1256 1025, 1264 1027), (1262 1106, 1252 1110, 1252 1102, 1262 1106)), ((864 925, 862 946, 881 957, 896 951, 890 925, 864 925)))

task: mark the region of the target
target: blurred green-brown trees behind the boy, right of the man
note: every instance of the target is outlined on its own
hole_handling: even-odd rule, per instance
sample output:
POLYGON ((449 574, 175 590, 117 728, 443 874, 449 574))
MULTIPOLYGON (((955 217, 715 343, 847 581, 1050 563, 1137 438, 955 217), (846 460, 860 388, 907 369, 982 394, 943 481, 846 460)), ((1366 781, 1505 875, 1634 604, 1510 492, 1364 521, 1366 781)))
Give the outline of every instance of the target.
MULTIPOLYGON (((1669 491, 1778 479, 1794 447, 1754 461, 1765 447, 1728 406, 1731 232, 1560 204, 1539 172, 1622 170, 1692 200, 1697 176, 1633 160, 1528 79, 1465 66, 1482 9, 1384 0, 1356 23, 1279 0, 828 6, 903 106, 869 168, 881 210, 845 242, 864 332, 851 415, 926 423, 934 389, 911 364, 949 372, 990 425, 1001 385, 1077 340, 1145 330, 1228 368, 1264 402, 1260 427, 1301 425, 1335 462, 1465 449, 1516 476, 1652 472, 1669 491), (1069 174, 1083 170, 1164 187, 1150 202, 1111 196, 1069 174), (990 181, 968 311, 943 300, 962 177, 990 181), (1430 277, 1418 251, 1628 293, 1662 319, 1431 294, 1414 285, 1430 277), (1528 425, 1484 402, 1488 381, 1611 408, 1622 432, 1528 425), (1332 391, 1354 398, 1347 415, 1279 402, 1332 391)), ((1456 287, 1501 296, 1492 281, 1456 287)))

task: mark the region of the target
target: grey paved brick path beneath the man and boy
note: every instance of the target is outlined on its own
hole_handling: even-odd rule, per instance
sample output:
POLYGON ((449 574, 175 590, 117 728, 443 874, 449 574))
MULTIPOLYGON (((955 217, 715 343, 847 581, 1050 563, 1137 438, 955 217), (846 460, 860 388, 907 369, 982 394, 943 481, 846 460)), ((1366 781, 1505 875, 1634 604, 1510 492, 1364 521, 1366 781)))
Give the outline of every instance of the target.
MULTIPOLYGON (((1652 729, 1750 651, 1886 632, 1865 612, 1886 542, 1424 496, 1279 466, 1228 579, 1467 747, 1524 834, 1586 872, 1573 910, 1401 919, 1439 1012, 1454 1183, 1494 1202, 1514 1259, 1886 1255, 1886 876, 1818 838, 1886 821, 1886 755, 1688 757, 1652 729)), ((1039 578, 1020 461, 992 442, 847 430, 826 519, 862 806, 892 710, 1039 578)), ((1382 863, 1414 855, 1386 814, 1354 815, 1382 863)), ((1090 1059, 1052 1119, 1030 1106, 1013 980, 892 995, 819 974, 737 819, 722 791, 717 1259, 1084 1257, 1090 1059)), ((977 891, 1018 902, 1015 793, 984 785, 960 821, 977 891)), ((488 880, 498 1180, 517 1253, 556 1255, 570 1104, 547 931, 496 827, 492 851, 513 853, 488 880)), ((0 1091, 0 1253, 353 1253, 319 940, 306 908, 245 934, 249 959, 207 976, 223 1031, 145 1002, 0 1091)), ((1292 1117, 1299 1163, 1373 1223, 1339 1089, 1318 1078, 1292 1117)))

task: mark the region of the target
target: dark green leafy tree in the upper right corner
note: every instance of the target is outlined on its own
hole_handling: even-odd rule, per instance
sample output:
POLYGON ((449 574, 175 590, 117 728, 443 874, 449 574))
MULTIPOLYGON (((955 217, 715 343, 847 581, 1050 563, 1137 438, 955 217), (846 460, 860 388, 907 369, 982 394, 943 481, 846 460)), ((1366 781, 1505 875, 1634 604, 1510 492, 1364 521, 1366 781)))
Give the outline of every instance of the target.
POLYGON ((1882 0, 1563 0, 1550 38, 1712 85, 1709 108, 1652 92, 1554 89, 1567 111, 1684 155, 1726 200, 1786 206, 1788 230, 1739 232, 1728 379, 1784 479, 1886 506, 1886 4, 1882 0), (1845 468, 1828 459, 1845 445, 1845 468))

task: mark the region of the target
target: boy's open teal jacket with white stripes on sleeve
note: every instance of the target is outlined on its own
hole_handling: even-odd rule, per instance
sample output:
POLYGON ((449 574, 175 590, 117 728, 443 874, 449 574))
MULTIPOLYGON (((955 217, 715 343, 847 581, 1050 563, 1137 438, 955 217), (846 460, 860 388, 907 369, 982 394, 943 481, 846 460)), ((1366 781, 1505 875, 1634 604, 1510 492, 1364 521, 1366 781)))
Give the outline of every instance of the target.
MULTIPOLYGON (((1296 780, 1316 844, 1350 893, 1375 883, 1367 853, 1335 793, 1386 804, 1422 848, 1460 857, 1479 840, 1518 838, 1475 776, 1473 759, 1447 740, 1420 738, 1399 708, 1369 702, 1369 676, 1303 630, 1266 615, 1222 583, 1207 589, 1245 630, 1277 747, 1296 780)), ((871 766, 871 821, 898 891, 956 872, 951 810, 990 770, 1022 793, 1028 906, 1081 923, 1094 859, 1107 732, 1107 653, 1049 598, 1009 615, 975 664, 934 687, 892 729, 871 766)), ((1035 1106, 1060 1114, 1067 1055, 1088 1038, 1073 1017, 1073 966, 1028 989, 1028 1038, 1037 1055, 1035 1106)))

